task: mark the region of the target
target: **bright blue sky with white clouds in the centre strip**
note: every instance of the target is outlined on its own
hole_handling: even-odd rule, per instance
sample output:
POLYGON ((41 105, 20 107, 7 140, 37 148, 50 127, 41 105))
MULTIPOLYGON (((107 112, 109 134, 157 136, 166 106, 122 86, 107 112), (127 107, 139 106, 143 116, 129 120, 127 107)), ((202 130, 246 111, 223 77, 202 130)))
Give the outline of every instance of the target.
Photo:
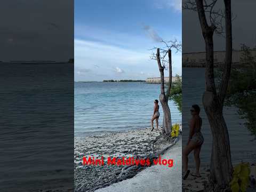
MULTIPOLYGON (((75 81, 158 77, 150 49, 181 41, 181 26, 181 0, 76 0, 75 81)), ((181 75, 181 53, 172 55, 181 75)))

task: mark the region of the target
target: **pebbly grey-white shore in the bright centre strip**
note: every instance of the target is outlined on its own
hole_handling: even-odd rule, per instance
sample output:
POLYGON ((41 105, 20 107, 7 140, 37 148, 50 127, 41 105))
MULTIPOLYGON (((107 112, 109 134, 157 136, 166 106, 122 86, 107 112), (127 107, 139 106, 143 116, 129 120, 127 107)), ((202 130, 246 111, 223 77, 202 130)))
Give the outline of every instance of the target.
POLYGON ((83 165, 83 157, 132 157, 150 153, 150 141, 161 134, 161 129, 151 132, 150 128, 124 132, 105 132, 75 138, 75 190, 94 191, 108 186, 113 173, 121 172, 123 165, 83 165), (106 177, 107 176, 107 177, 106 177), (101 179, 102 178, 102 179, 101 179), (97 181, 101 180, 98 184, 97 181), (103 185, 102 185, 103 183, 103 185), (97 186, 95 188, 95 186, 97 186))

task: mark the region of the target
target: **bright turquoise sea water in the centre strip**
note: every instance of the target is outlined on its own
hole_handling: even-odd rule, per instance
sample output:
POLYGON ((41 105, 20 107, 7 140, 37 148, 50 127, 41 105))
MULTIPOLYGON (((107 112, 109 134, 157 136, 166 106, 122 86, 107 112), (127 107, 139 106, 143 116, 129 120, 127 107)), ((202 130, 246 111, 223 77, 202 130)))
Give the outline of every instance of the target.
MULTIPOLYGON (((154 100, 159 100, 160 84, 145 82, 75 83, 75 136, 102 131, 122 131, 150 126, 154 100)), ((159 125, 163 111, 159 102, 159 125)), ((173 123, 181 114, 169 101, 173 123)))

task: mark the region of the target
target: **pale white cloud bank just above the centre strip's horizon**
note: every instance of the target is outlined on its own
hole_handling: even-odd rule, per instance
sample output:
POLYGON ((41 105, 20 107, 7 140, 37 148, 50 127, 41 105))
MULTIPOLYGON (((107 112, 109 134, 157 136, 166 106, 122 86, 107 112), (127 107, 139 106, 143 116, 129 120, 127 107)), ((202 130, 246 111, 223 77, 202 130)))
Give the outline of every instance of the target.
MULTIPOLYGON (((151 51, 75 39, 75 81, 146 79, 159 76, 151 51)), ((173 73, 181 74, 181 54, 173 54, 173 73)))

